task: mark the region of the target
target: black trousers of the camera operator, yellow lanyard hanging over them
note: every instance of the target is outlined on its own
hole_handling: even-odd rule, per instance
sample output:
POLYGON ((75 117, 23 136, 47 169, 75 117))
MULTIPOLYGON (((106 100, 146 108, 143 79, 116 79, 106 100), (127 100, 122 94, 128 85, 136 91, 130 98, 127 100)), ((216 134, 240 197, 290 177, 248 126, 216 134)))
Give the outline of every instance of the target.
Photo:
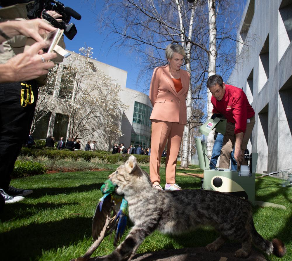
POLYGON ((20 105, 20 82, 0 84, 0 188, 4 189, 10 184, 21 146, 28 139, 38 96, 34 80, 22 83, 30 84, 34 94, 34 102, 26 107, 20 105))

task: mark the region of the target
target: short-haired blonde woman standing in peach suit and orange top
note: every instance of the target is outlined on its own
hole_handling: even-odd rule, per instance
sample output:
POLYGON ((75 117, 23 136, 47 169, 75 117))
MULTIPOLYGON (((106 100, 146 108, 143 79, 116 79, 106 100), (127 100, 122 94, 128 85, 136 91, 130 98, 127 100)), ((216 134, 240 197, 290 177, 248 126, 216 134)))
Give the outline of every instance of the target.
POLYGON ((179 44, 169 44, 165 55, 168 65, 154 69, 149 97, 153 106, 150 179, 156 189, 161 189, 159 167, 167 141, 165 190, 180 190, 175 183, 176 162, 184 125, 187 123, 186 97, 190 74, 180 69, 185 51, 179 44))

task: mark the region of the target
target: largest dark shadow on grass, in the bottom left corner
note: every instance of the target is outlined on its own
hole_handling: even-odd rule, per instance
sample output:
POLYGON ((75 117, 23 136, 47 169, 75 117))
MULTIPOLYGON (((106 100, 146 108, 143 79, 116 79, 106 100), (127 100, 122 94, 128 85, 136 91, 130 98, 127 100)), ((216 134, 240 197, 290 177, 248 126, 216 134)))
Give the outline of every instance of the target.
POLYGON ((91 218, 30 224, 0 234, 1 260, 36 260, 42 251, 71 246, 91 236, 91 218))

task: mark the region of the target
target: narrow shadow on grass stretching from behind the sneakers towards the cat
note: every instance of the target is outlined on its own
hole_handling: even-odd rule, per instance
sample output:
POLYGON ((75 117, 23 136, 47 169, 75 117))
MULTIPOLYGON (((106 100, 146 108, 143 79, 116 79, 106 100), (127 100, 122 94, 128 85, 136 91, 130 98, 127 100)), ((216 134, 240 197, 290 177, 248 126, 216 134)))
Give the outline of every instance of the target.
POLYGON ((91 191, 94 189, 100 189, 103 183, 93 183, 88 185, 79 185, 77 187, 63 187, 63 188, 41 188, 34 189, 34 193, 29 195, 30 198, 40 198, 46 195, 58 195, 58 194, 71 194, 71 193, 79 193, 85 191, 91 191))

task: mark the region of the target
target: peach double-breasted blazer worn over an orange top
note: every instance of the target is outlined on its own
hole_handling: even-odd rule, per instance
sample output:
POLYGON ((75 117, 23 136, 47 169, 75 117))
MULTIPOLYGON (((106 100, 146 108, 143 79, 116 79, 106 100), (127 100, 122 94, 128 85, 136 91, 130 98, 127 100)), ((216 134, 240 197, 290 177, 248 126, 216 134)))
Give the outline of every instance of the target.
POLYGON ((187 124, 187 105, 185 101, 190 86, 190 74, 180 69, 180 80, 183 89, 177 93, 168 65, 154 69, 149 91, 149 98, 153 106, 150 120, 187 124))

